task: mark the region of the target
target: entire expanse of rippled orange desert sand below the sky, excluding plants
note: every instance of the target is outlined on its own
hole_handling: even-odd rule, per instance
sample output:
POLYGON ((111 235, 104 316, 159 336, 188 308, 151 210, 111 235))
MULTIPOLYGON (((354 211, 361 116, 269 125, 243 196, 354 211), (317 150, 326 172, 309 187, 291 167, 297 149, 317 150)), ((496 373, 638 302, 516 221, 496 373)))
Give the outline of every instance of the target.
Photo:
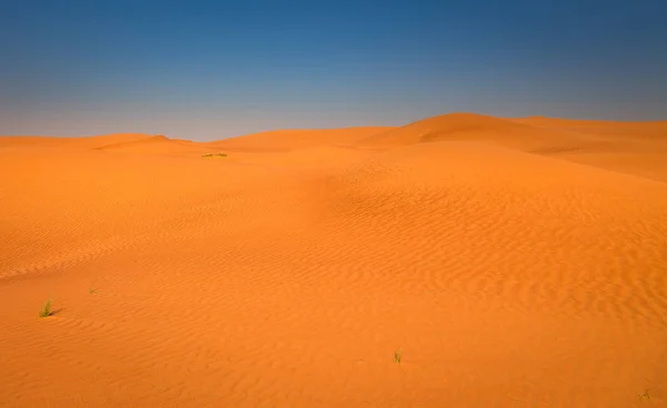
POLYGON ((4 137, 0 208, 2 407, 667 406, 667 122, 4 137))

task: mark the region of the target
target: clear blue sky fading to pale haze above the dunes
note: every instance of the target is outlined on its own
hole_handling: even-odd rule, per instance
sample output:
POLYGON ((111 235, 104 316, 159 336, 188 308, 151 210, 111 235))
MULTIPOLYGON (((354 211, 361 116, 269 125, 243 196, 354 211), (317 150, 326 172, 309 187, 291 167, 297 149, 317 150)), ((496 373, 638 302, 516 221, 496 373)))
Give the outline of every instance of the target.
POLYGON ((0 0, 0 135, 667 119, 667 1, 0 0))

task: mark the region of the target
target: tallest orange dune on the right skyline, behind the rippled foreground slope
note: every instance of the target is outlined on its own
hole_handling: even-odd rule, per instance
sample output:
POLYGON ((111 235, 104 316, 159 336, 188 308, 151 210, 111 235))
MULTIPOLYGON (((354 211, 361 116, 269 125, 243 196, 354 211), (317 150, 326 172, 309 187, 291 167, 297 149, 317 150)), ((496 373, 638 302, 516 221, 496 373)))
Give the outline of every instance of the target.
POLYGON ((605 122, 551 118, 500 119, 450 113, 357 141, 397 148, 434 141, 481 141, 667 182, 667 121, 605 122))

